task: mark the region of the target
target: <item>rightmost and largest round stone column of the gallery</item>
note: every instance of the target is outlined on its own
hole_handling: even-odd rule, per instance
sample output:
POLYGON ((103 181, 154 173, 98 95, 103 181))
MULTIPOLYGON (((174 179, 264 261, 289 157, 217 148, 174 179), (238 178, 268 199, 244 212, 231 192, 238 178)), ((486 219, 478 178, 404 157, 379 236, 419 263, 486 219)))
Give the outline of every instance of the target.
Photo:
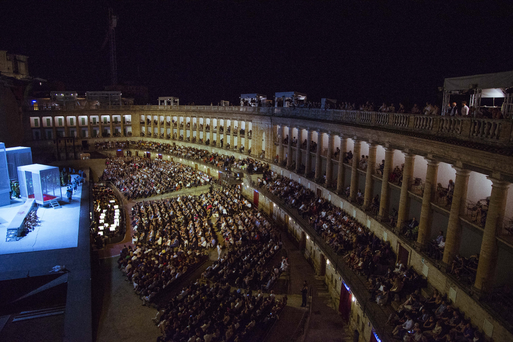
POLYGON ((486 177, 491 180, 490 204, 484 226, 481 252, 479 253, 478 271, 474 286, 482 291, 491 290, 495 281, 497 268, 497 236, 501 233, 506 200, 510 183, 496 178, 486 177))

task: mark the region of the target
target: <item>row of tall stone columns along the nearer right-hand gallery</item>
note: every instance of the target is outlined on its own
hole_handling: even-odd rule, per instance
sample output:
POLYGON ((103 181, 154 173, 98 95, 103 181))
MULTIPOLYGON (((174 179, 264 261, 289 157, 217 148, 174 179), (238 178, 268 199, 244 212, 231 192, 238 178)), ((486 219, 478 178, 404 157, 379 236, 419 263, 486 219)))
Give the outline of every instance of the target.
MULTIPOLYGON (((322 173, 322 165, 323 165, 323 135, 327 135, 328 146, 326 158, 326 178, 323 183, 324 186, 328 188, 334 188, 333 183, 336 180, 336 191, 338 193, 343 193, 344 189, 344 180, 345 180, 345 172, 346 168, 344 165, 344 156, 348 152, 347 151, 347 141, 349 138, 353 140, 353 157, 351 167, 351 179, 349 186, 349 196, 348 200, 352 202, 356 202, 358 186, 359 186, 359 175, 361 172, 366 173, 366 181, 365 181, 365 191, 363 194, 363 205, 362 209, 369 209, 372 202, 372 194, 374 187, 374 178, 373 176, 376 174, 376 152, 378 147, 378 142, 376 141, 367 141, 369 145, 368 152, 368 160, 367 160, 367 169, 360 170, 360 156, 361 156, 361 144, 364 142, 358 137, 348 137, 342 133, 336 134, 333 132, 321 132, 320 130, 313 130, 310 127, 288 127, 288 129, 284 126, 274 127, 274 130, 278 129, 278 140, 277 140, 277 150, 278 150, 278 159, 281 162, 286 158, 287 163, 286 167, 291 168, 292 160, 293 160, 293 149, 292 149, 292 139, 294 138, 292 132, 293 128, 298 131, 298 144, 295 148, 295 168, 294 172, 299 173, 301 169, 301 162, 304 160, 305 171, 304 177, 313 178, 313 180, 317 183, 321 183, 323 178, 322 173), (303 130, 306 130, 306 150, 302 148, 303 141, 303 130), (311 143, 312 143, 312 133, 317 131, 317 149, 315 151, 311 151, 311 143), (285 132, 288 133, 288 141, 284 140, 285 132), (334 144, 334 136, 339 135, 340 137, 340 155, 338 156, 338 174, 336 177, 333 177, 333 144, 334 144), (286 149, 285 149, 286 146, 286 149), (285 155, 286 151, 286 155, 285 155), (312 164, 312 153, 314 153, 315 158, 315 173, 312 177, 311 175, 311 164, 312 164)), ((380 196, 380 206, 378 217, 383 220, 388 219, 388 207, 389 207, 389 194, 390 194, 390 183, 387 181, 392 173, 392 162, 393 162, 393 154, 395 149, 387 146, 385 144, 385 159, 382 171, 382 184, 381 184, 381 196, 380 196)), ((401 151, 404 155, 404 169, 402 175, 402 183, 401 183, 401 192, 400 192, 400 200, 398 204, 398 217, 397 217, 397 226, 398 229, 401 229, 403 223, 409 220, 410 213, 410 190, 411 183, 413 179, 413 167, 415 165, 415 157, 416 155, 411 153, 408 150, 401 151)), ((438 166, 440 161, 437 160, 435 156, 429 156, 429 158, 425 157, 424 160, 427 162, 427 170, 424 177, 425 185, 424 191, 422 194, 422 205, 421 205, 421 213, 419 218, 419 233, 417 242, 420 245, 427 245, 431 240, 431 224, 432 224, 432 202, 435 200, 435 194, 437 189, 437 177, 438 177, 438 166)), ((461 166, 452 165, 452 168, 456 170, 456 179, 454 182, 454 190, 452 194, 452 200, 450 203, 450 211, 447 225, 447 233, 446 233, 446 241, 445 248, 443 252, 442 261, 451 265, 452 261, 459 254, 459 250, 462 242, 462 227, 461 227, 461 218, 464 215, 464 210, 466 207, 466 198, 467 198, 467 187, 468 187, 468 179, 470 175, 470 170, 465 169, 461 166)), ((509 182, 503 181, 500 179, 500 175, 492 175, 492 177, 487 177, 492 185, 491 185, 491 196, 489 197, 489 205, 488 212, 486 216, 486 223, 484 225, 483 239, 481 243, 481 251, 479 258, 479 265, 476 275, 475 288, 478 290, 488 290, 489 286, 493 285, 493 280, 496 273, 497 261, 498 261, 498 240, 500 229, 502 229, 502 220, 505 214, 505 206, 507 200, 507 191, 510 185, 509 182)))

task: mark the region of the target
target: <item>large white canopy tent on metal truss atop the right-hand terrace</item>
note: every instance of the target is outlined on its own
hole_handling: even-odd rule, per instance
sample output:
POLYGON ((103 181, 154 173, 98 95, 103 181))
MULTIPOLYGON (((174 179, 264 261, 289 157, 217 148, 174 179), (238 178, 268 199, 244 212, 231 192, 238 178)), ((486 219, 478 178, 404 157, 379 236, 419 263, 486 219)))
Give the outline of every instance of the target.
POLYGON ((470 105, 481 106, 483 97, 504 97, 502 115, 511 118, 513 114, 513 71, 492 74, 451 77, 444 80, 444 99, 442 108, 447 110, 451 94, 470 94, 470 105))

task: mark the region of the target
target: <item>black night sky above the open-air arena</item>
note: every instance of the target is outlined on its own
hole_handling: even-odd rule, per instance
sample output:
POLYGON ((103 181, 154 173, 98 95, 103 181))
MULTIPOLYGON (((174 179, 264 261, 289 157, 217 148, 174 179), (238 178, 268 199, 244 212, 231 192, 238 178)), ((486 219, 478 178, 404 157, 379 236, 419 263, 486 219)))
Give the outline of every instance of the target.
MULTIPOLYGON (((281 91, 411 104, 437 100, 445 77, 513 70, 509 2, 362 3, 113 1, 118 80, 147 86, 154 104, 281 91)), ((28 55, 32 76, 110 83, 107 2, 6 4, 0 49, 28 55)))

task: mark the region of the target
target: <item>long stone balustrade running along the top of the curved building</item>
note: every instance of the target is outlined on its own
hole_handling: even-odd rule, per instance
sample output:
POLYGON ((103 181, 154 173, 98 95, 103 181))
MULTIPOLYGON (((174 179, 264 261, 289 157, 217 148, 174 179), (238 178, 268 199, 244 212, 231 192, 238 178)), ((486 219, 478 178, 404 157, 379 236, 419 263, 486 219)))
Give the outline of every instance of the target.
MULTIPOLYGON (((204 106, 204 105, 93 105, 93 106, 58 106, 40 108, 38 111, 185 111, 185 112, 229 112, 253 113, 274 117, 293 117, 325 120, 350 125, 380 126, 387 129, 416 132, 442 138, 457 138, 473 142, 484 142, 498 146, 513 145, 511 135, 512 120, 488 118, 429 116, 403 113, 380 113, 352 110, 323 110, 310 108, 282 107, 244 107, 244 106, 204 106)), ((25 111, 34 111, 33 107, 25 111)), ((181 126, 182 127, 182 126, 181 126)), ((416 135, 417 136, 417 135, 416 135)))

